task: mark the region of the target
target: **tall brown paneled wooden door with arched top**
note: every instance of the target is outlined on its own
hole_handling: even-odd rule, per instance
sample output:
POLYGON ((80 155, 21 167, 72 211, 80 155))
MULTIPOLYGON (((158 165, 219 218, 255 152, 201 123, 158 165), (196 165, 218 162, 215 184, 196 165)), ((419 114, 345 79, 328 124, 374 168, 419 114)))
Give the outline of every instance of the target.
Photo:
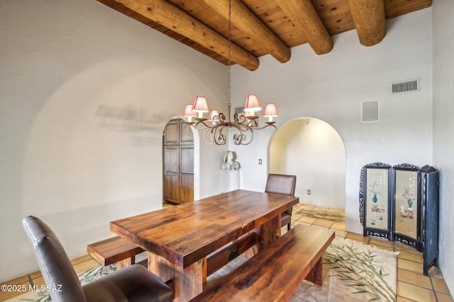
POLYGON ((164 202, 194 201, 194 135, 181 119, 165 125, 163 137, 164 202))

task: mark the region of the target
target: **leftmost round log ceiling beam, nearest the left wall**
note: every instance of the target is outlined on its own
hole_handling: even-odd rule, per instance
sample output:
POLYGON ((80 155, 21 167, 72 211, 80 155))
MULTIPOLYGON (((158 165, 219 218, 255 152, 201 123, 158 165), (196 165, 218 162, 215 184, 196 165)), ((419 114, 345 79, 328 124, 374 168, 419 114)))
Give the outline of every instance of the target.
MULTIPOLYGON (((221 54, 223 57, 228 57, 228 40, 225 37, 167 1, 148 0, 146 3, 138 0, 116 1, 207 49, 221 54)), ((258 69, 259 65, 258 59, 253 54, 233 43, 231 43, 231 61, 251 71, 258 69)))

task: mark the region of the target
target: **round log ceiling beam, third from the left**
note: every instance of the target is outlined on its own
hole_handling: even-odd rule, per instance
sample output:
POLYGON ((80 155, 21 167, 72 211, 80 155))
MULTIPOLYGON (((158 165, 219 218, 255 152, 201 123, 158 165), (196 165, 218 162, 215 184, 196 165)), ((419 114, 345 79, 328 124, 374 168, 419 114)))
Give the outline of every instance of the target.
POLYGON ((311 0, 276 0, 295 26, 304 30, 306 39, 316 54, 326 54, 333 49, 333 39, 326 30, 311 0))

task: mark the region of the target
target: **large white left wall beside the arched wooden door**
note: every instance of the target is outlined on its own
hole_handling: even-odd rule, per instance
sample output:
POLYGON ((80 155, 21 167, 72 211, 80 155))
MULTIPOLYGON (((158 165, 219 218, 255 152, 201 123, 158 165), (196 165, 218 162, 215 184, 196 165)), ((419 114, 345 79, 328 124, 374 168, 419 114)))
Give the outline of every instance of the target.
MULTIPOLYGON (((0 3, 0 281, 38 269, 21 219, 71 258, 109 221, 162 207, 162 130, 226 66, 98 1, 0 3)), ((196 197, 218 193, 221 149, 199 149, 196 197)))

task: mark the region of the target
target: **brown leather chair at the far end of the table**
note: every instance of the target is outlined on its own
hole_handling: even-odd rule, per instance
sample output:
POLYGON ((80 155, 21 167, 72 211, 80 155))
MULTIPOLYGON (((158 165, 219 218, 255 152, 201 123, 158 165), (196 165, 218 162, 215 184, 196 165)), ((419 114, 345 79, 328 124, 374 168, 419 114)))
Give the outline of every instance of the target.
MULTIPOLYGON (((297 185, 296 175, 270 173, 268 174, 265 192, 294 196, 295 185, 297 185)), ((288 231, 290 231, 290 223, 292 223, 292 209, 293 207, 281 214, 281 228, 287 224, 288 231)))

